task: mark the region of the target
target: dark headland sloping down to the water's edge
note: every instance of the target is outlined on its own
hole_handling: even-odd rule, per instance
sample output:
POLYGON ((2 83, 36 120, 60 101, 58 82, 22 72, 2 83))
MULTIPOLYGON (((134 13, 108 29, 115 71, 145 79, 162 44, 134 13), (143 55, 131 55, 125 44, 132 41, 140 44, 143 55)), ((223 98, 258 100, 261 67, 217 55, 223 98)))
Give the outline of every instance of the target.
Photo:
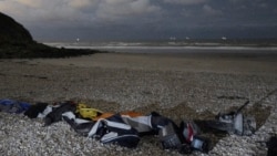
POLYGON ((58 49, 38 43, 22 24, 0 12, 0 59, 66 58, 95 52, 99 51, 58 49))

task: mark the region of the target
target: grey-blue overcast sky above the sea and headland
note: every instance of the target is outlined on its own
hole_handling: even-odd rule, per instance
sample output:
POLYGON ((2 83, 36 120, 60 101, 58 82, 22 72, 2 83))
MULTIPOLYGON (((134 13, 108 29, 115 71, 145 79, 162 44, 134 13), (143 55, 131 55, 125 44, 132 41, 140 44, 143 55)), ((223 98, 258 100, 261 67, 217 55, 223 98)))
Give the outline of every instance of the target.
POLYGON ((39 41, 277 38, 277 0, 0 0, 39 41))

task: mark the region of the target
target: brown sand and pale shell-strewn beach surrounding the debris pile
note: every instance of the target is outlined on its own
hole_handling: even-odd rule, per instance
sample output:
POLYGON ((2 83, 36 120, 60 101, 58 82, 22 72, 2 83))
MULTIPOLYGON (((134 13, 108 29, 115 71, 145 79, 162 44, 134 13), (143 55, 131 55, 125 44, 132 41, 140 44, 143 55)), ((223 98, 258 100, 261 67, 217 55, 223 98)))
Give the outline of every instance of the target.
MULTIPOLYGON (((1 60, 0 98, 30 103, 85 102, 107 112, 156 111, 176 123, 206 119, 238 107, 254 115, 253 136, 207 136, 208 155, 265 155, 277 134, 276 58, 220 58, 153 54, 95 54, 54 60, 1 60)), ((0 113, 0 155, 178 155, 163 150, 155 136, 135 149, 101 145, 79 136, 64 123, 0 113)), ((192 155, 206 155, 194 152, 192 155)))

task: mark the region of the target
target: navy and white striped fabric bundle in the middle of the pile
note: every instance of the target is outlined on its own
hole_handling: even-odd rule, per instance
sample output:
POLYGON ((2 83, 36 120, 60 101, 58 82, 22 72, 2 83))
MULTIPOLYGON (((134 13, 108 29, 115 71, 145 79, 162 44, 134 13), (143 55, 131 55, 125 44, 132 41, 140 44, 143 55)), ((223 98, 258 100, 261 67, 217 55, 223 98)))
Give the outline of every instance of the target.
POLYGON ((100 139, 103 144, 133 148, 140 142, 138 132, 124 123, 120 114, 103 113, 98 121, 76 118, 73 112, 65 112, 62 116, 78 134, 100 139))

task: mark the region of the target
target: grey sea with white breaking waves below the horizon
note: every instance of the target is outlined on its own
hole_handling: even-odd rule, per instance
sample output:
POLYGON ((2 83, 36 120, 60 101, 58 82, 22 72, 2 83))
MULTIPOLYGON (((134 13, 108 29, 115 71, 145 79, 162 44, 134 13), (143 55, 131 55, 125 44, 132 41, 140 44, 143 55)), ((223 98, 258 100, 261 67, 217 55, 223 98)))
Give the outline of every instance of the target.
POLYGON ((266 41, 158 41, 158 42, 43 42, 65 49, 90 49, 122 53, 273 53, 277 42, 266 41))

